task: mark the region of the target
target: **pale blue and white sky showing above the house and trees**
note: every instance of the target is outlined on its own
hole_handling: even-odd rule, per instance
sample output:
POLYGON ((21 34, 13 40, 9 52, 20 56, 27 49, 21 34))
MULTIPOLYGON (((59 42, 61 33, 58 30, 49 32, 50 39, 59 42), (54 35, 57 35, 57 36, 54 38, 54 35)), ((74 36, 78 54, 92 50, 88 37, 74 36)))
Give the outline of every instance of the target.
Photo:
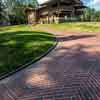
MULTIPOLYGON (((38 2, 44 3, 48 0, 38 0, 38 2)), ((96 10, 100 10, 100 0, 82 0, 84 2, 85 5, 91 7, 91 8, 95 8, 96 10)))

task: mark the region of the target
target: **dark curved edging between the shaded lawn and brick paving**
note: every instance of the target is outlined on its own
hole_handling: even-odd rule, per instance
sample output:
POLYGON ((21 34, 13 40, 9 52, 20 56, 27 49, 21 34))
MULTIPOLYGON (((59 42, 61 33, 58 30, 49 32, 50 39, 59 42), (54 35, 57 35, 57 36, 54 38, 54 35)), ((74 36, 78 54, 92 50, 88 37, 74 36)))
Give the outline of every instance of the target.
POLYGON ((26 64, 23 64, 21 67, 17 68, 16 70, 14 70, 14 71, 12 71, 12 72, 10 72, 10 73, 7 73, 7 74, 5 74, 5 75, 2 75, 2 76, 0 77, 0 80, 3 80, 3 79, 5 79, 5 78, 10 77, 11 75, 13 75, 13 74, 15 74, 15 73, 17 73, 17 72, 19 72, 19 71, 21 71, 21 70, 27 68, 29 65, 38 62, 38 61, 41 60, 43 57, 45 57, 46 55, 48 55, 53 49, 56 48, 56 46, 57 46, 57 44, 58 44, 58 40, 57 40, 57 38, 56 38, 55 35, 54 35, 54 38, 55 38, 55 39, 54 39, 54 40, 55 40, 54 45, 53 45, 52 47, 50 47, 44 54, 42 54, 40 57, 36 58, 36 59, 33 60, 33 61, 30 61, 30 62, 28 62, 28 63, 26 63, 26 64))

